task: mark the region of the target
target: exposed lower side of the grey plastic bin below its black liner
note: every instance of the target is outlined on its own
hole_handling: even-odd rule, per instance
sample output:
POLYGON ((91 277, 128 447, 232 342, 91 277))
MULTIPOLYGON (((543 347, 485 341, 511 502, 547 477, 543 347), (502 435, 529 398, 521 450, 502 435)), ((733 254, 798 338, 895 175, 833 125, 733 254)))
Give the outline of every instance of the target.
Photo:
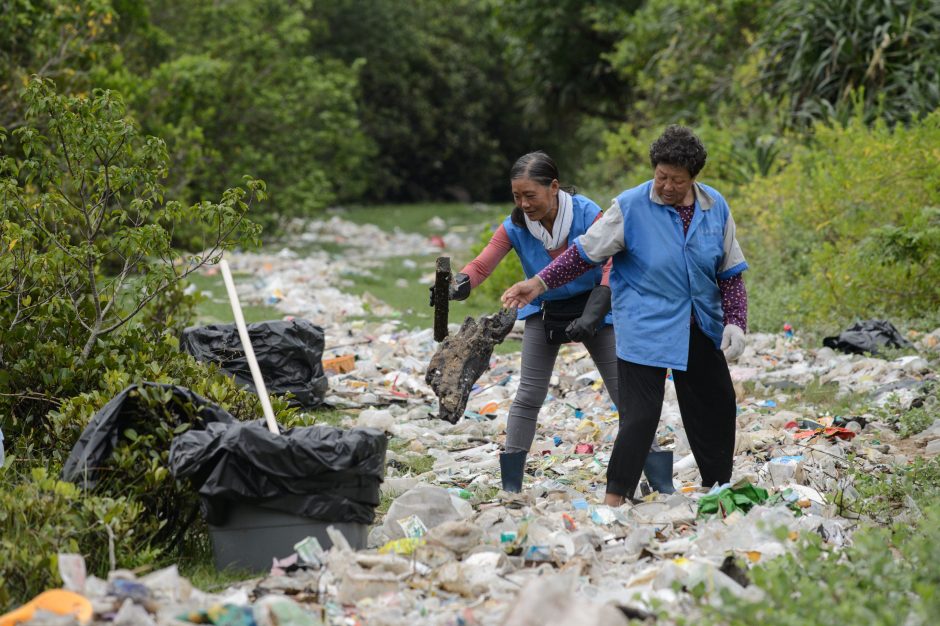
POLYGON ((294 544, 307 537, 316 537, 328 550, 333 546, 328 526, 340 531, 354 550, 366 547, 369 527, 354 522, 323 522, 265 509, 253 504, 231 502, 228 517, 221 526, 209 525, 212 553, 216 569, 271 569, 273 558, 284 558, 294 552, 294 544))

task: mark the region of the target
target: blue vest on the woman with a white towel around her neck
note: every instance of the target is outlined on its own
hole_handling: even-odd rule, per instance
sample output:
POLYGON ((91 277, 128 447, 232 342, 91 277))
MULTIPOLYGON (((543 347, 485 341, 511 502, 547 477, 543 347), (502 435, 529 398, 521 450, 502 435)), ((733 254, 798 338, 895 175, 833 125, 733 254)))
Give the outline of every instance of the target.
MULTIPOLYGON (((584 234, 601 212, 599 206, 582 195, 571 196, 571 209, 572 218, 571 229, 568 231, 568 245, 571 245, 575 237, 584 234)), ((516 254, 519 255, 526 278, 532 278, 552 262, 552 257, 545 250, 545 246, 532 236, 528 228, 516 226, 512 223, 511 217, 507 217, 503 221, 503 228, 506 229, 509 241, 512 242, 516 254)), ((564 300, 594 289, 595 286, 601 284, 602 276, 603 268, 598 266, 557 289, 546 291, 531 303, 519 309, 518 319, 524 320, 533 313, 537 313, 541 309, 544 300, 564 300)), ((610 313, 604 318, 604 323, 613 323, 613 317, 610 313)))

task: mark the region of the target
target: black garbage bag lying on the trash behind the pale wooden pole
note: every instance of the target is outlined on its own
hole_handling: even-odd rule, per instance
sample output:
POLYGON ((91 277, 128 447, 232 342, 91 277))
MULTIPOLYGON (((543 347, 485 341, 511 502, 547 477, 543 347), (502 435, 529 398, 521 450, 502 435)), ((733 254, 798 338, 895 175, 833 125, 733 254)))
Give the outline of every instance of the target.
MULTIPOLYGON (((323 329, 305 319, 248 324, 251 347, 268 393, 294 395, 291 403, 311 409, 323 403, 328 387, 323 373, 323 329)), ((217 363, 239 385, 255 391, 235 324, 191 326, 180 347, 199 361, 217 363)))

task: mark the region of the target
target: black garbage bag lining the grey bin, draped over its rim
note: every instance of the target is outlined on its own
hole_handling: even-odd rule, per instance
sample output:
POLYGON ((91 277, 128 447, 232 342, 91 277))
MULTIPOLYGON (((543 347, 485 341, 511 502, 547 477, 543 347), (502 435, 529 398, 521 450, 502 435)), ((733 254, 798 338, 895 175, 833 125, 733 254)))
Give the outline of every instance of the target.
POLYGON ((385 477, 385 433, 371 428, 292 428, 263 421, 210 424, 173 439, 170 471, 203 497, 209 523, 229 502, 246 502, 328 522, 371 524, 385 477))

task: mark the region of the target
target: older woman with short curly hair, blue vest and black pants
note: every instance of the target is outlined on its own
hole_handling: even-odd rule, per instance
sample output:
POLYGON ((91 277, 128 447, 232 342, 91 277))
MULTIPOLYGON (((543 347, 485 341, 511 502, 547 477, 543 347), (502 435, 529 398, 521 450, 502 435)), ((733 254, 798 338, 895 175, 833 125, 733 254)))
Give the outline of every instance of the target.
POLYGON ((622 504, 636 491, 667 368, 702 485, 731 479, 736 408, 727 361, 744 350, 747 262, 727 202, 696 181, 706 155, 690 129, 668 127, 650 146, 653 179, 617 196, 564 254, 503 294, 506 306, 524 306, 613 259, 621 412, 606 504, 622 504))

